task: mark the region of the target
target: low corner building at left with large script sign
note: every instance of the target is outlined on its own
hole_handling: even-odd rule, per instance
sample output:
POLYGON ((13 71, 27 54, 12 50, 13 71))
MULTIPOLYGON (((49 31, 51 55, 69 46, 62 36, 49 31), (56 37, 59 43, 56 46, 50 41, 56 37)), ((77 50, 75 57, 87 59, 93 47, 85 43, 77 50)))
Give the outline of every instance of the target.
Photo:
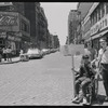
POLYGON ((0 11, 0 44, 1 46, 11 46, 14 53, 24 49, 24 44, 29 43, 30 23, 17 12, 0 11), (2 33, 5 33, 5 38, 2 33))

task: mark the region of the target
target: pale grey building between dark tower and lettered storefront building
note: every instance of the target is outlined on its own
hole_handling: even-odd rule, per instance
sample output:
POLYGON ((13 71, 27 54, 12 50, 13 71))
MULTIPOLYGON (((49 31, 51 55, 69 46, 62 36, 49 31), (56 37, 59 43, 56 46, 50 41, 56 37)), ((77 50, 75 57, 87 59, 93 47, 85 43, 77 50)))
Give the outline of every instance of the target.
POLYGON ((90 37, 91 19, 87 15, 89 10, 93 5, 93 2, 79 2, 77 10, 79 12, 79 25, 77 27, 78 31, 78 43, 82 40, 87 40, 90 37))

